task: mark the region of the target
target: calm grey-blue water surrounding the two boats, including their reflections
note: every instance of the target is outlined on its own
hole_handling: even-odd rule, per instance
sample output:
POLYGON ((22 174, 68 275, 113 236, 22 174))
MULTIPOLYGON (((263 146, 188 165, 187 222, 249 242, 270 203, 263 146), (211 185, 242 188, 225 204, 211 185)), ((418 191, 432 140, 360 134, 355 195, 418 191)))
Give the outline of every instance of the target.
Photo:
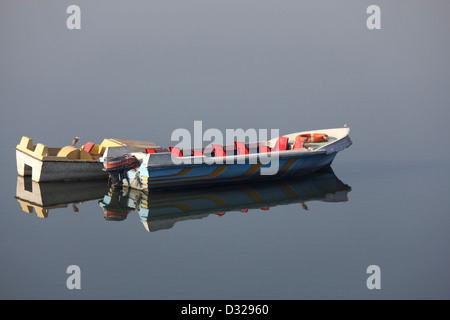
POLYGON ((450 298, 448 2, 373 32, 352 1, 96 1, 78 31, 70 4, 0 4, 1 299, 450 298), (168 146, 195 120, 354 144, 334 173, 148 199, 17 177, 22 135, 168 146))

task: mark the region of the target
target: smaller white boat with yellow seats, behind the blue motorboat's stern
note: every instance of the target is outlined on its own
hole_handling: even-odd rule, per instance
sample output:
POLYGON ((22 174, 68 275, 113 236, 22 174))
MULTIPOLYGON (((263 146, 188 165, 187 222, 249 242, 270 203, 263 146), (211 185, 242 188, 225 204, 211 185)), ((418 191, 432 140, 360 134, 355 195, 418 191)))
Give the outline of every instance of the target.
POLYGON ((33 143, 33 139, 23 136, 16 146, 17 173, 19 176, 31 176, 33 181, 67 181, 108 179, 104 170, 104 162, 100 161, 109 147, 127 146, 134 152, 145 149, 159 148, 152 142, 128 139, 104 139, 102 143, 86 142, 76 147, 48 147, 42 143, 33 143))

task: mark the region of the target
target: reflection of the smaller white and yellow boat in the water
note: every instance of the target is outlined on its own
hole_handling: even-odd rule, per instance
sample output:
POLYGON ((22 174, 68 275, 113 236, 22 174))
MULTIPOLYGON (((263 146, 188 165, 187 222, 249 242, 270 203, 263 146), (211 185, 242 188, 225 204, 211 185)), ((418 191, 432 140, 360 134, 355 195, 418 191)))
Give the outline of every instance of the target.
POLYGON ((99 200, 108 192, 104 180, 77 182, 35 182, 31 177, 17 177, 16 199, 22 210, 39 218, 47 218, 52 209, 72 206, 75 213, 78 205, 99 200))

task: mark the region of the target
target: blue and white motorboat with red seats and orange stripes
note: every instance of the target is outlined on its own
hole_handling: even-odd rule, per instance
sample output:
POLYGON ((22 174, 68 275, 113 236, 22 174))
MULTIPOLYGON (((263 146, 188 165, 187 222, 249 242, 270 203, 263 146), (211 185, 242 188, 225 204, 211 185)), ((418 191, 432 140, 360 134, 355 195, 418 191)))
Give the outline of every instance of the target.
POLYGON ((257 143, 212 144, 202 150, 169 147, 133 152, 126 146, 111 147, 103 161, 135 157, 139 166, 111 178, 114 185, 138 190, 274 180, 329 167, 337 153, 352 144, 349 132, 346 127, 303 131, 257 143))

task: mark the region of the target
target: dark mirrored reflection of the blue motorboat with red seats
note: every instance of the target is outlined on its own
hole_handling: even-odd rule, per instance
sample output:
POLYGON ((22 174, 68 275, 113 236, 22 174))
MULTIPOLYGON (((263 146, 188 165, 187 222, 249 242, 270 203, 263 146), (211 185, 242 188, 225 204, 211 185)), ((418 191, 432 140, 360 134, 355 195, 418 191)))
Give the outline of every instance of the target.
POLYGON ((121 221, 136 211, 147 231, 157 231, 210 214, 269 210, 294 203, 308 210, 309 201, 346 202, 350 190, 329 168, 303 178, 264 183, 150 193, 128 188, 110 190, 99 205, 106 220, 121 221))

